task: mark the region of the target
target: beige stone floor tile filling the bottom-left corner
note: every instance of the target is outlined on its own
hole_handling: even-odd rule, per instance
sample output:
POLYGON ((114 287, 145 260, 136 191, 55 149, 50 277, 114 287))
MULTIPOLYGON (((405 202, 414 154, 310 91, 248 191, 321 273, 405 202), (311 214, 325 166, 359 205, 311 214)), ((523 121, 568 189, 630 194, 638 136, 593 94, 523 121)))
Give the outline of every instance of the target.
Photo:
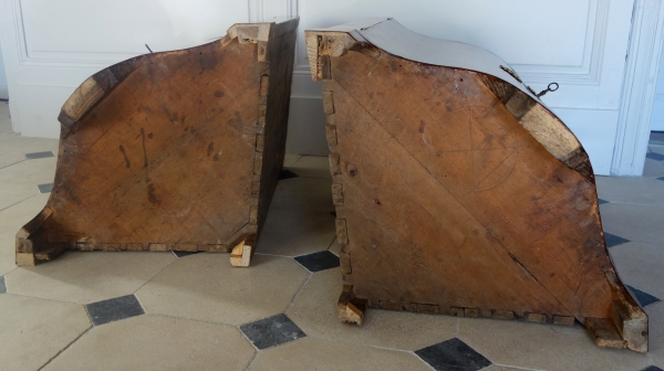
POLYGON ((37 370, 89 329, 82 305, 0 295, 0 369, 37 370))

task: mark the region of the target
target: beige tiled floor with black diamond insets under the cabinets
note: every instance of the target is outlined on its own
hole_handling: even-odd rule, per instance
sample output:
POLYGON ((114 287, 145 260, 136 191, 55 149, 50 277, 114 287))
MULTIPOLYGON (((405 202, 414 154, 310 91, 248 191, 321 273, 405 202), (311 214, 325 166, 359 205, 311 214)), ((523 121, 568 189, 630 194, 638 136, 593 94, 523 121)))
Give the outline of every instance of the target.
POLYGON ((18 268, 13 236, 46 202, 37 186, 52 182, 55 167, 54 157, 25 153, 55 153, 58 142, 13 136, 3 105, 1 370, 664 368, 664 162, 655 155, 643 178, 598 178, 610 253, 647 304, 651 351, 640 354, 598 348, 579 325, 375 309, 362 327, 341 324, 326 158, 287 157, 250 268, 230 267, 227 254, 177 252, 70 252, 18 268))

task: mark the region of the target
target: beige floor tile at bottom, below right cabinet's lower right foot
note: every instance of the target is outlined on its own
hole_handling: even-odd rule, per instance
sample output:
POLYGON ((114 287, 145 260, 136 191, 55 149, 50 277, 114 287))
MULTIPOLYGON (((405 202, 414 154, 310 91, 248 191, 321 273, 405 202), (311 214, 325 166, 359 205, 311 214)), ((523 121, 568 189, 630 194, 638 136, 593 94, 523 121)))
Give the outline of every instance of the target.
POLYGON ((460 318, 458 338, 497 364, 548 371, 642 370, 647 354, 598 347, 580 325, 460 318))

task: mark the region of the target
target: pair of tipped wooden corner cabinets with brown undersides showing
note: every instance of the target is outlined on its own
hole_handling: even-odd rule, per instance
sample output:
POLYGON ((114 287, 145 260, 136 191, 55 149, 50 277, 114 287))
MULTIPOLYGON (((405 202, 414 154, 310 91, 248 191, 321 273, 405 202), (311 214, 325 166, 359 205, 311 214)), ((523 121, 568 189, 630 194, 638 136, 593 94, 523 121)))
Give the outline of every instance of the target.
MULTIPOLYGON (((17 263, 64 250, 249 265, 281 172, 298 20, 138 56, 64 104, 53 191, 17 263)), ((489 52, 391 19, 305 32, 323 81, 342 320, 366 307, 584 324, 647 350, 573 134, 489 52)))

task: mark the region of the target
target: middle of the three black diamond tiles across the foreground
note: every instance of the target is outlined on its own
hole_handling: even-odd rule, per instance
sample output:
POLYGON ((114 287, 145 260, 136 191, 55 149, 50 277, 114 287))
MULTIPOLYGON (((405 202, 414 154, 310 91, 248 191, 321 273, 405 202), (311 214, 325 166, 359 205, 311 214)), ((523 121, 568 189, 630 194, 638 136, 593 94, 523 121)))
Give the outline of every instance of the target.
POLYGON ((283 314, 242 325, 240 331, 258 350, 281 346, 307 337, 307 333, 283 314))

